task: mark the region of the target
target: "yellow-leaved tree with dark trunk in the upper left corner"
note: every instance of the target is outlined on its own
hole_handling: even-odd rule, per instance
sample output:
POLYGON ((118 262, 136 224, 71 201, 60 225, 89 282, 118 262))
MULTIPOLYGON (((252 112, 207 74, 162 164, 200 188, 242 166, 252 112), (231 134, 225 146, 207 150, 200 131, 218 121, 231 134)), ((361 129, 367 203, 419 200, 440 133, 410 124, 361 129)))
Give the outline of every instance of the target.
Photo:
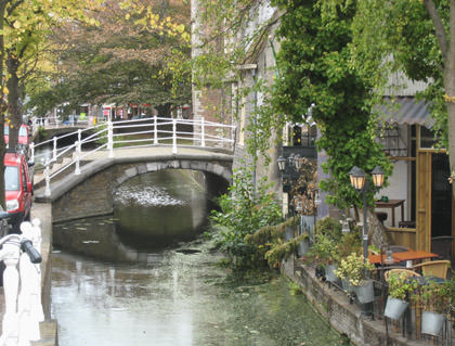
MULTIPOLYGON (((22 121, 20 106, 21 78, 25 78, 39 60, 46 33, 68 17, 84 20, 83 10, 92 8, 98 0, 73 2, 69 0, 1 0, 0 1, 0 59, 2 76, 0 97, 0 177, 4 174, 5 153, 3 124, 13 124, 10 145, 17 142, 18 125, 22 121), (6 64, 4 64, 6 62, 6 64), (8 95, 8 100, 6 100, 8 95)), ((4 181, 0 179, 0 204, 5 208, 4 181)))

